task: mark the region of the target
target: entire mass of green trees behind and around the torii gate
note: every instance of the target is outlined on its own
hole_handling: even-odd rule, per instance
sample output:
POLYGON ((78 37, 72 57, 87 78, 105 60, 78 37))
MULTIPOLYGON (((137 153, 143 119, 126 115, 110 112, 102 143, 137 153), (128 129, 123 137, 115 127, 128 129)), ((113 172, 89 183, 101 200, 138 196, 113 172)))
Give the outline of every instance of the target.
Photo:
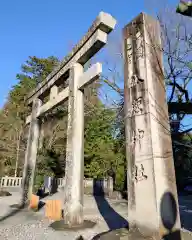
MULTIPOLYGON (((13 175, 16 161, 22 171, 28 129, 24 127, 30 109, 25 105, 27 94, 53 70, 57 58, 29 57, 17 75, 18 83, 13 86, 0 112, 0 163, 3 174, 13 175), (19 151, 19 157, 17 157, 19 151)), ((119 128, 116 111, 104 106, 98 98, 99 81, 85 89, 85 175, 107 177, 115 173, 118 189, 123 188, 125 158, 116 136, 119 128)), ((50 111, 43 119, 42 147, 38 151, 34 190, 43 184, 44 176, 62 177, 65 170, 67 141, 67 104, 50 111)), ((122 126, 121 126, 122 127, 122 126)))

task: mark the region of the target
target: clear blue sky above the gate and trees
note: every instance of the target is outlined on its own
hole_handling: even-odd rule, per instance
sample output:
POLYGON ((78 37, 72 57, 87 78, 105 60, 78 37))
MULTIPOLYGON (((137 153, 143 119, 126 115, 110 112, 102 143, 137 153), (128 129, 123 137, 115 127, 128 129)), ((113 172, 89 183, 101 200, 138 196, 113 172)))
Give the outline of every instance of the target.
MULTIPOLYGON (((100 11, 112 14, 121 29, 141 11, 156 6, 143 0, 2 0, 0 3, 0 107, 17 83, 28 56, 64 57, 100 11)), ((155 3, 156 2, 156 3, 155 3)), ((172 0, 171 2, 177 2, 172 0)))

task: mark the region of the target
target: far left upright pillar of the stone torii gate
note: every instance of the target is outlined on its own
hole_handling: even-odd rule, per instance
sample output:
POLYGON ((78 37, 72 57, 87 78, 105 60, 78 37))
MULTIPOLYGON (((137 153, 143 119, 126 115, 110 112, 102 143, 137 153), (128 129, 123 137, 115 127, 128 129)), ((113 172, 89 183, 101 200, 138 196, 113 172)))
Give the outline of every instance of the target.
POLYGON ((22 178, 22 204, 26 203, 27 200, 30 199, 33 191, 40 125, 38 118, 36 118, 36 115, 41 105, 41 100, 36 99, 33 102, 32 106, 31 123, 29 127, 29 135, 27 141, 27 149, 25 152, 25 164, 22 178))

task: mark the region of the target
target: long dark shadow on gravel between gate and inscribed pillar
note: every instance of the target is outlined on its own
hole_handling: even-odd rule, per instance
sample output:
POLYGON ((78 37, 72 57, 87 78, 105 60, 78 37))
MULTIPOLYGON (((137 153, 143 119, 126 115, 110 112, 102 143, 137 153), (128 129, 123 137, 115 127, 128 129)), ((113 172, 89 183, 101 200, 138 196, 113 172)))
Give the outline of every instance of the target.
POLYGON ((94 180, 93 196, 95 198, 98 210, 108 225, 109 230, 128 228, 127 220, 120 216, 106 200, 103 181, 94 180))

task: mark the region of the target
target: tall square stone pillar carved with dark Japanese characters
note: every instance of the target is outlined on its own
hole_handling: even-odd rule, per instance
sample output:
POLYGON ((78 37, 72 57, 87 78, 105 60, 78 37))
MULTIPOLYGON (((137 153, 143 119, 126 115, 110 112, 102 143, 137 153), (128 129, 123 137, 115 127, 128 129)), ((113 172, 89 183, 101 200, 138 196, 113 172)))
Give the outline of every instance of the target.
POLYGON ((159 23, 148 15, 124 28, 128 221, 153 239, 180 230, 160 46, 159 23))

